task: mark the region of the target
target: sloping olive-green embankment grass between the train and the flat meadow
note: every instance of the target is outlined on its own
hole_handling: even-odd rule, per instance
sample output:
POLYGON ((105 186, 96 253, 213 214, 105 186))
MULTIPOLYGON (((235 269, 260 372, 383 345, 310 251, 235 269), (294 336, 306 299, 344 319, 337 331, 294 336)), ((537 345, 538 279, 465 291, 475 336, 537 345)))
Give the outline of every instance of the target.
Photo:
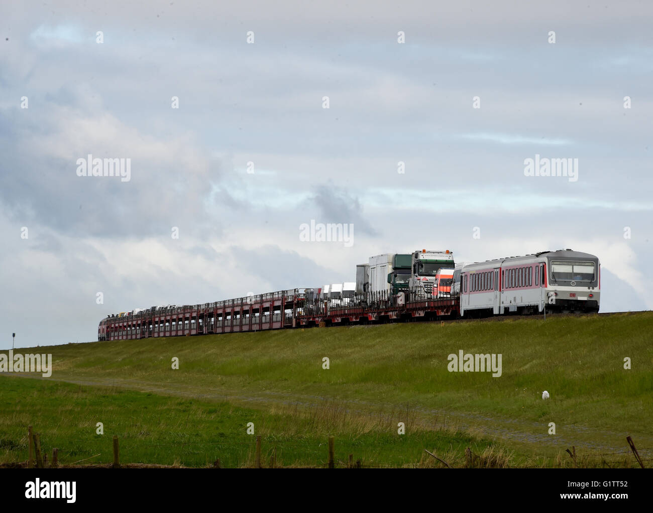
MULTIPOLYGON (((154 394, 147 401, 168 402, 165 419, 175 418, 170 412, 179 400, 213 408, 226 408, 227 401, 230 408, 247 407, 247 415, 267 415, 267 426, 278 417, 277 428, 286 426, 279 432, 289 432, 289 421, 281 418, 291 405, 297 404, 299 413, 290 418, 303 422, 311 405, 324 408, 327 402, 351 415, 392 418, 383 428, 371 429, 377 443, 368 440, 364 447, 370 460, 398 465, 379 455, 387 452, 386 445, 392 452, 399 412, 406 411, 404 417, 414 417, 414 431, 407 435, 453 428, 456 436, 468 432, 475 440, 498 441, 517 455, 514 463, 535 465, 571 445, 602 454, 627 450, 626 435, 644 450, 653 448, 652 328, 652 312, 556 315, 546 321, 518 317, 443 327, 402 323, 71 344, 39 352, 53 355, 49 381, 147 391, 154 394), (448 372, 447 356, 459 349, 501 353, 502 376, 448 372), (172 357, 180 360, 178 370, 171 368, 172 357), (322 368, 323 357, 330 359, 328 370, 322 368), (625 357, 631 370, 624 370, 625 357), (549 391, 550 400, 541 399, 542 390, 549 391), (548 434, 550 422, 556 435, 548 434)), ((5 383, 0 379, 0 387, 5 383)), ((95 404, 93 398, 88 401, 89 407, 95 404)), ((152 432, 149 422, 144 425, 152 432)), ((340 427, 338 436, 347 439, 349 428, 340 427)), ((328 433, 322 426, 306 436, 325 443, 328 433)), ((400 440, 396 443, 405 443, 400 440)), ((456 447, 450 443, 449 450, 456 447)), ((294 464, 297 458, 288 461, 294 464)), ((421 456, 411 453, 411 458, 417 462, 421 456)))

